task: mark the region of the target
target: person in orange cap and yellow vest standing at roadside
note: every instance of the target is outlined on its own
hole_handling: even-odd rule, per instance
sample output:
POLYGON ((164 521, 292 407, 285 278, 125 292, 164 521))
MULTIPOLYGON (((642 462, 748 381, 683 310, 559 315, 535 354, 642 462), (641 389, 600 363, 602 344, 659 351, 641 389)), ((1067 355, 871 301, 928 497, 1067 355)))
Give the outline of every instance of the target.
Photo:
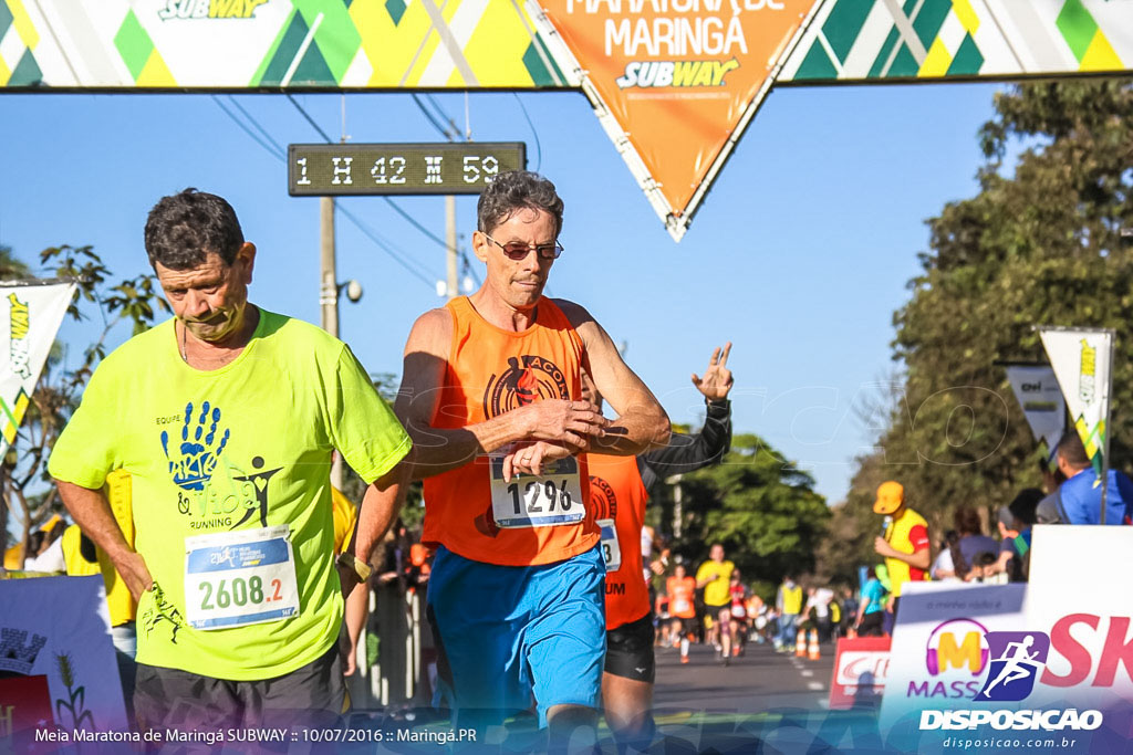
POLYGON ((878 487, 874 513, 885 516, 881 534, 874 540, 874 550, 885 557, 885 565, 889 570, 893 587, 891 610, 896 621, 901 586, 905 582, 929 578, 928 522, 905 506, 905 489, 893 480, 878 487))

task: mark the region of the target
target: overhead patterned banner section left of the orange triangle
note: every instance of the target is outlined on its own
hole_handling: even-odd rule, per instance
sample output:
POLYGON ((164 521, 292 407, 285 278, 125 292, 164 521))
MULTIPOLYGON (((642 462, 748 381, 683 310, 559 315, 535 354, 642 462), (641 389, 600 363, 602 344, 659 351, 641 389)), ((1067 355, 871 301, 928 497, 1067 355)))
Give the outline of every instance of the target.
POLYGON ((0 87, 563 84, 522 3, 510 0, 0 3, 0 87))

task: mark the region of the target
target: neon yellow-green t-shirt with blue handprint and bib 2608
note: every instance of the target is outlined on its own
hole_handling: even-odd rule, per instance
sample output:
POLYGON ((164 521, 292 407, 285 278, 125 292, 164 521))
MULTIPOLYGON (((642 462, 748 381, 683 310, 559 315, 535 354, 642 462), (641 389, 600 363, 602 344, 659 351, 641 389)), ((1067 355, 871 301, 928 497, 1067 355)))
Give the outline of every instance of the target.
POLYGON ((410 448, 342 342, 259 312, 252 341, 216 370, 185 363, 173 320, 131 338, 95 370, 52 451, 51 474, 84 488, 101 488, 112 470, 133 475, 135 548, 155 581, 137 608, 140 663, 254 680, 326 652, 342 620, 331 452, 372 482, 410 448), (205 548, 199 535, 224 547, 205 548), (233 539, 248 542, 228 548, 233 539), (265 563, 293 563, 282 593, 272 580, 240 576, 258 576, 265 563), (208 618, 222 628, 196 628, 221 611, 264 623, 208 618))

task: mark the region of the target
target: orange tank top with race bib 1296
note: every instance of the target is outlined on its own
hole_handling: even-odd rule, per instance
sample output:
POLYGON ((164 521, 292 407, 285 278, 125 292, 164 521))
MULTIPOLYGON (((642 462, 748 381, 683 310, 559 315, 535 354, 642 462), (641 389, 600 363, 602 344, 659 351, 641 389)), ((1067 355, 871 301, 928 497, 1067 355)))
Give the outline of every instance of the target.
MULTIPOLYGON (((519 333, 485 320, 467 297, 445 307, 452 345, 433 427, 462 428, 536 401, 580 398, 582 340, 550 299, 539 300, 535 323, 519 333)), ((538 478, 505 482, 506 452, 425 480, 421 541, 501 566, 554 564, 594 548, 586 460, 561 460, 538 478)))

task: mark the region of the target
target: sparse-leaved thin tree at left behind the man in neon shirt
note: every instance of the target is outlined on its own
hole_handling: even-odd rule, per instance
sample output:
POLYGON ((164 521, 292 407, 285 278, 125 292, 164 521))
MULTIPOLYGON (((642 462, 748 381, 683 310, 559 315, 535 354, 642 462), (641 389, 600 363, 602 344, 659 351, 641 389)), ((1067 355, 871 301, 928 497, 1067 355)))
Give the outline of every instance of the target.
MULTIPOLYGON (((83 387, 94 368, 107 354, 107 338, 122 321, 133 326, 135 334, 153 323, 155 307, 169 311, 164 299, 157 295, 154 277, 140 274, 109 285, 111 272, 92 247, 51 247, 40 252, 50 277, 76 283, 75 299, 67 310, 76 320, 88 319, 96 310, 101 316, 101 333, 83 351, 77 364, 68 364, 66 351, 57 344, 48 358, 43 372, 32 394, 27 413, 7 455, 0 463, 0 523, 8 535, 7 517, 10 511, 18 523, 17 542, 26 548, 28 534, 62 511, 58 489, 48 474, 46 462, 59 434, 71 413, 78 407, 83 387), (84 310, 90 314, 84 314, 84 310)), ((0 250, 0 273, 28 277, 29 268, 15 260, 10 250, 0 250)))

